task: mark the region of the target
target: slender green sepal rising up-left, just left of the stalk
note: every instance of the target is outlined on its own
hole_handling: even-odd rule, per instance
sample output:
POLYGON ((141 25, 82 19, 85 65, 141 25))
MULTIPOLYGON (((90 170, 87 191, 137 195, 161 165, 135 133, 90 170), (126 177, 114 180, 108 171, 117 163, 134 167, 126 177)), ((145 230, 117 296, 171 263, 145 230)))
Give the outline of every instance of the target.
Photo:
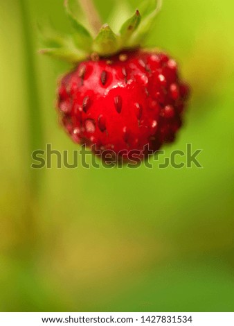
POLYGON ((71 9, 69 7, 69 0, 64 1, 64 6, 66 9, 66 14, 68 15, 73 28, 75 28, 74 40, 80 46, 80 48, 90 48, 92 37, 87 31, 87 29, 78 22, 78 19, 72 14, 71 9))

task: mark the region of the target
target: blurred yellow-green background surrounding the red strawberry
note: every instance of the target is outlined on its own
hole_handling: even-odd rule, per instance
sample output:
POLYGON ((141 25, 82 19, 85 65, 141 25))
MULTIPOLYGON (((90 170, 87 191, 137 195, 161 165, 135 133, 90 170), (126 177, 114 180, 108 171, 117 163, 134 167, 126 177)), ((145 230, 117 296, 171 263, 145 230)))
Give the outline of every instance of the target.
POLYGON ((62 0, 0 1, 1 311, 234 311, 233 12, 165 0, 148 42, 193 88, 166 155, 192 143, 203 169, 32 171, 33 149, 77 148, 54 109, 69 67, 37 53, 37 23, 70 26, 62 0))

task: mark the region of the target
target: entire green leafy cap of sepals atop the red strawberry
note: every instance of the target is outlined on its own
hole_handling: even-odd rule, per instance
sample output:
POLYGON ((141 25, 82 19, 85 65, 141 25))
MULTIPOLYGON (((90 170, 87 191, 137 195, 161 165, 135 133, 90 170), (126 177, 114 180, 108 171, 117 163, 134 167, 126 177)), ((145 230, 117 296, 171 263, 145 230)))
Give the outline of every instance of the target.
MULTIPOLYGON (((70 0, 65 0, 64 6, 75 28, 75 33, 68 36, 58 35, 53 31, 40 33, 42 42, 46 48, 42 50, 41 53, 77 64, 89 58, 92 53, 108 57, 120 52, 122 49, 134 49, 141 46, 145 39, 147 39, 147 35, 161 8, 163 0, 142 1, 140 7, 142 10, 141 15, 140 12, 136 10, 132 17, 127 19, 122 26, 120 25, 119 34, 115 34, 109 25, 105 24, 100 28, 94 40, 91 33, 78 22, 78 19, 71 12, 69 1, 70 0)), ((125 17, 125 15, 123 15, 123 17, 125 17)), ((120 19, 122 22, 123 17, 120 19)))

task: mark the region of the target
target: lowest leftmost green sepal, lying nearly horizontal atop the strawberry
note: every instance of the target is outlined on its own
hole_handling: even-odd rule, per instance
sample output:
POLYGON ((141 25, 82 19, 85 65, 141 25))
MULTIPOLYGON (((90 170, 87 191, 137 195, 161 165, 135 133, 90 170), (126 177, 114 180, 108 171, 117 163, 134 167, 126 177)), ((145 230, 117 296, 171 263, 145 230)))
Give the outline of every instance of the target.
POLYGON ((85 58, 87 58, 87 55, 85 53, 82 53, 78 50, 74 49, 64 49, 64 48, 55 48, 55 49, 42 49, 39 51, 39 53, 48 55, 50 57, 64 60, 69 63, 76 64, 85 58))

